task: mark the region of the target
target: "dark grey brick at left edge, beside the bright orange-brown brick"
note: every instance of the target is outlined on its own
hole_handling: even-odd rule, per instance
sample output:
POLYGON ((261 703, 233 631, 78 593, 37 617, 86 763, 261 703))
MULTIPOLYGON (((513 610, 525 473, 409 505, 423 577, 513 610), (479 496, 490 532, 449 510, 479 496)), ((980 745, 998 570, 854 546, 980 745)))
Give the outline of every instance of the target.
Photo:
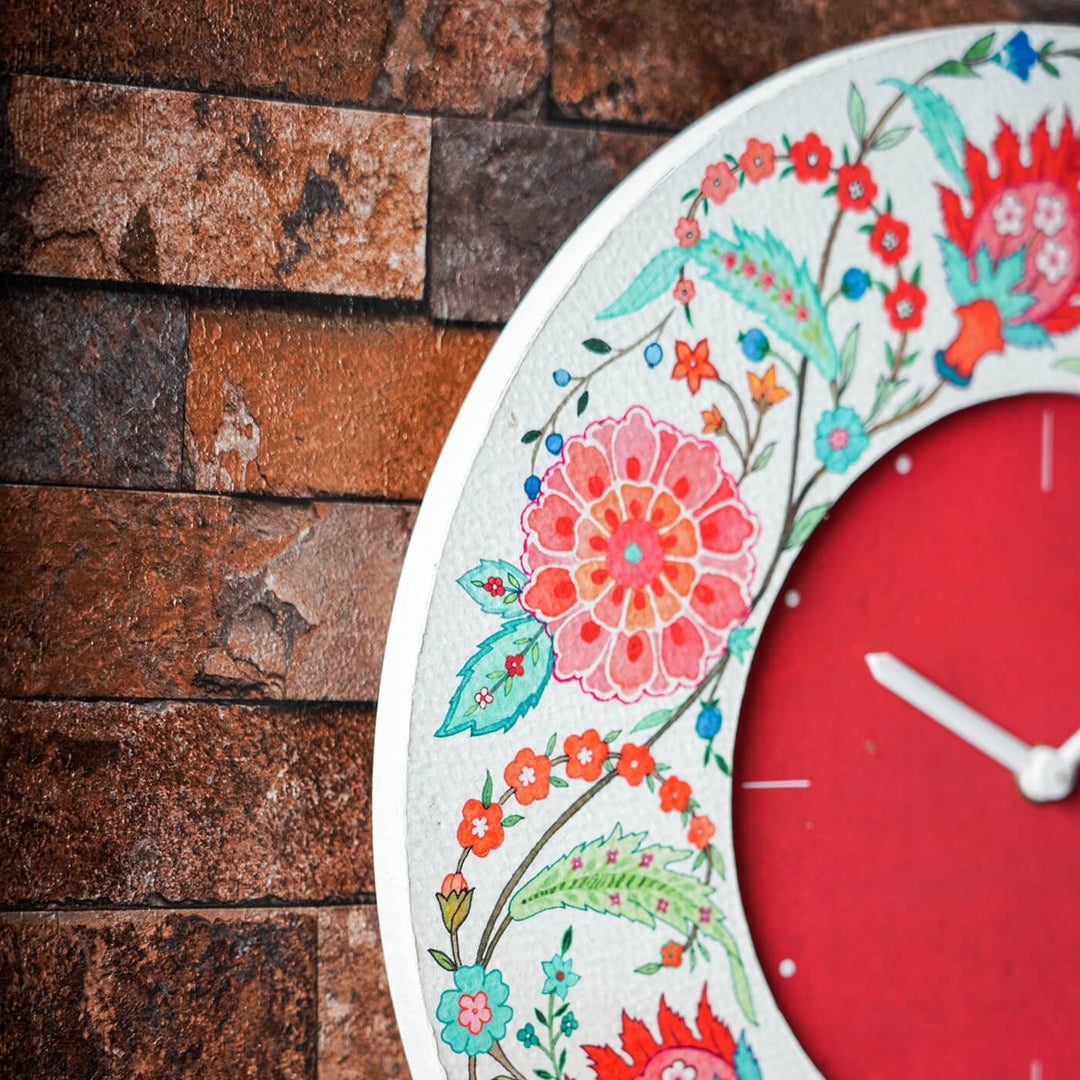
POLYGON ((187 339, 172 297, 0 292, 0 480, 176 487, 187 339))

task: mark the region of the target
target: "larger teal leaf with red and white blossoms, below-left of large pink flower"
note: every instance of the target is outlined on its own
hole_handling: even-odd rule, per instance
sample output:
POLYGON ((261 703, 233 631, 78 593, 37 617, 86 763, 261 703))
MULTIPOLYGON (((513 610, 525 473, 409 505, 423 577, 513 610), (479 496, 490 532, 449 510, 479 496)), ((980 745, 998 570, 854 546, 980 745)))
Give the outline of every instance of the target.
POLYGON ((486 735, 492 731, 510 730, 518 717, 540 700, 551 678, 553 662, 551 637, 542 623, 531 616, 508 619, 499 631, 481 643, 477 651, 458 672, 460 683, 435 734, 444 738, 468 731, 472 735, 486 735), (539 651, 526 648, 534 638, 539 651), (522 666, 525 669, 523 675, 507 680, 501 686, 498 679, 489 678, 490 672, 504 671, 508 656, 517 653, 522 653, 522 666), (503 686, 508 683, 509 692, 505 692, 503 686), (475 694, 483 687, 487 688, 494 700, 481 708, 475 694))

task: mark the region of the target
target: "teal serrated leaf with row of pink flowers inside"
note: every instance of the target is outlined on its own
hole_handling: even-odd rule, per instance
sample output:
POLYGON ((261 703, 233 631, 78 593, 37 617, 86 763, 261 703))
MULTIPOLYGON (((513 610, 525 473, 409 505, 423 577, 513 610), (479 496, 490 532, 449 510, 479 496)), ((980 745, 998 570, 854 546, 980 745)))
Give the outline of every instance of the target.
POLYGON ((825 308, 807 270, 806 260, 795 256, 768 229, 764 235, 732 226, 734 240, 711 232, 690 251, 705 270, 706 280, 730 294, 738 302, 761 315, 777 334, 808 356, 829 381, 836 378, 839 357, 828 328, 825 308), (750 272, 753 265, 754 272, 750 272), (767 268, 774 279, 766 289, 759 272, 767 268), (792 300, 781 300, 781 289, 792 289, 792 300), (799 319, 800 309, 806 318, 799 319))

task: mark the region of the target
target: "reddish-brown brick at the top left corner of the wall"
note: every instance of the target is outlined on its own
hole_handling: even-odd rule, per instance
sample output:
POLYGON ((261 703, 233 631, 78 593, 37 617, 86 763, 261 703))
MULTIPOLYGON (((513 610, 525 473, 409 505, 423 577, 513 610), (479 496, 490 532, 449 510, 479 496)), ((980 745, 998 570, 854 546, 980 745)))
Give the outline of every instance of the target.
POLYGON ((545 0, 11 0, 11 69, 184 90, 535 116, 545 0))

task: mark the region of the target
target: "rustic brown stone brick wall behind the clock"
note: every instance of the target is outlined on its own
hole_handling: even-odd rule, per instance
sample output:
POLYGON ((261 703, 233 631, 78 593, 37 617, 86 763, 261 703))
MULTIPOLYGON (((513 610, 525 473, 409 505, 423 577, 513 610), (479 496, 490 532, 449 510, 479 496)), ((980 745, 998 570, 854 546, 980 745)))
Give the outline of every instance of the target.
POLYGON ((673 131, 977 0, 10 0, 0 1076, 406 1076, 370 854, 415 508, 673 131))

